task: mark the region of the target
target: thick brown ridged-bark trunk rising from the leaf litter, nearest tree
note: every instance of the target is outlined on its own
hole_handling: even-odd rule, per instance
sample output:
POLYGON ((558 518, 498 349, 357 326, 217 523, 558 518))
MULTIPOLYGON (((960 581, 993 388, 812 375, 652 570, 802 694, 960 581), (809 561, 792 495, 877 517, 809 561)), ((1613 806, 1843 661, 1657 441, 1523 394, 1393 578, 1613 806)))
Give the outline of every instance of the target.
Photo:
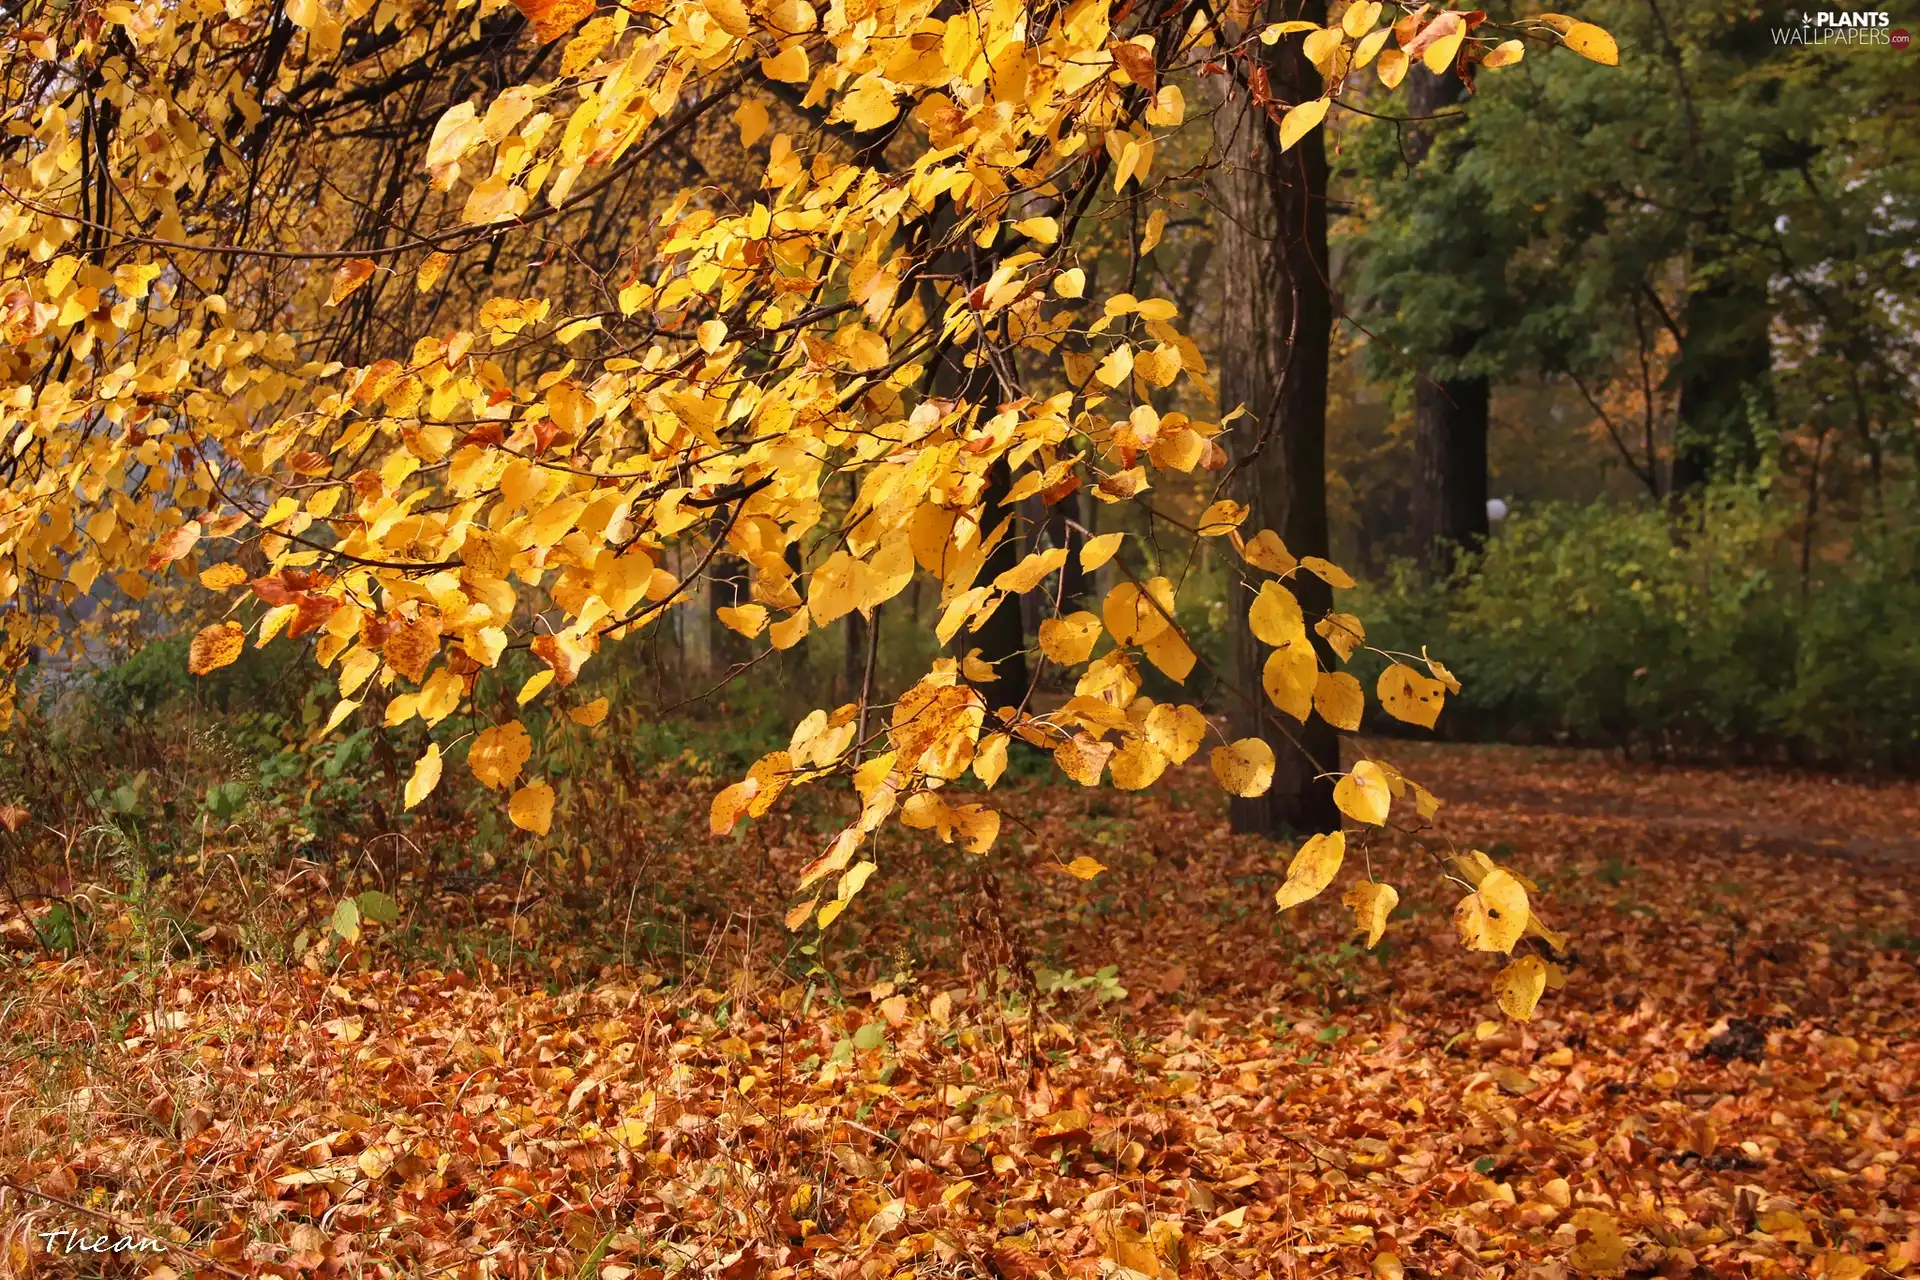
MULTIPOLYGON (((1327 21, 1327 0, 1269 4, 1265 21, 1327 21)), ((1263 59, 1279 104, 1321 94, 1321 79, 1298 35, 1252 46, 1263 59)), ((1250 102, 1238 77, 1221 77, 1215 113, 1221 405, 1246 405, 1231 428, 1235 497, 1248 505, 1246 530, 1271 528, 1296 557, 1327 555, 1327 367, 1332 297, 1327 280, 1327 146, 1315 129, 1290 152, 1279 150, 1273 119, 1250 102)), ((1331 589, 1311 574, 1292 581, 1308 618, 1332 606, 1331 589)), ((1235 733, 1273 747, 1273 787, 1233 800, 1233 829, 1283 835, 1336 831, 1332 779, 1340 741, 1331 723, 1309 716, 1286 723, 1261 693, 1265 647, 1246 620, 1254 593, 1233 589, 1235 733)))

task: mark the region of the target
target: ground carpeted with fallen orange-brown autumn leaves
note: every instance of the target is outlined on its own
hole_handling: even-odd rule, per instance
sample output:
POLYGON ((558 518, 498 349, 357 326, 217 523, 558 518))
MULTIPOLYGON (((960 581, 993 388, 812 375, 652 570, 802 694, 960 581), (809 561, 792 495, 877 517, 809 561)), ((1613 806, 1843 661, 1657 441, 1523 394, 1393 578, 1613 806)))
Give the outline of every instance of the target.
MULTIPOLYGON (((1920 1265, 1920 787, 1371 750, 1448 796, 1430 833, 1354 846, 1404 887, 1375 952, 1336 902, 1273 910, 1284 860, 1227 835, 1198 773, 1117 796, 1014 770, 1018 839, 979 860, 889 837, 858 929, 820 954, 780 917, 833 816, 672 837, 703 831, 710 785, 685 777, 603 808, 634 827, 624 862, 409 871, 397 921, 296 963, 248 942, 215 873, 171 915, 69 885, 92 948, 8 933, 0 1267, 1920 1265), (1430 873, 1469 844, 1524 865, 1572 935, 1524 1025, 1430 873), (1079 858, 1104 869, 1062 871, 1079 858), (50 1255, 35 1232, 61 1228, 184 1244, 50 1255)), ((280 871, 248 910, 309 929, 353 873, 280 871)))

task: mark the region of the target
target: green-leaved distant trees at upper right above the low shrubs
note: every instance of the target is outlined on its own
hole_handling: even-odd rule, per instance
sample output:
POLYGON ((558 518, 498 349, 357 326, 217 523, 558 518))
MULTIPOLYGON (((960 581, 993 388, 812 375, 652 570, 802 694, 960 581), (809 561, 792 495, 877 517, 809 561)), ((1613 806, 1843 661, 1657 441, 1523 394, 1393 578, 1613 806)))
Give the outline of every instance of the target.
POLYGON ((1434 564, 1484 530, 1488 382, 1574 388, 1651 497, 1778 464, 1820 507, 1834 486, 1878 493, 1910 451, 1901 58, 1780 44, 1759 12, 1592 15, 1620 36, 1619 75, 1415 69, 1413 119, 1348 148, 1352 307, 1411 401, 1411 541, 1434 564))

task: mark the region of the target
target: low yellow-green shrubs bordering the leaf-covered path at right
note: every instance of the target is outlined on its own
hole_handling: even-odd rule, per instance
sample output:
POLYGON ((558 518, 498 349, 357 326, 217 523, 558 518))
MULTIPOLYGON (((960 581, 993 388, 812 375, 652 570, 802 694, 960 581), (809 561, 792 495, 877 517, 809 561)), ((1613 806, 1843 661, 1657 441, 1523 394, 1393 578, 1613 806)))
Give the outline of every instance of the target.
POLYGON ((1803 580, 1799 512, 1730 486, 1678 516, 1517 512, 1446 591, 1400 566, 1359 612, 1375 645, 1425 641, 1459 676, 1450 737, 1912 768, 1916 551, 1914 530, 1860 532, 1803 580))

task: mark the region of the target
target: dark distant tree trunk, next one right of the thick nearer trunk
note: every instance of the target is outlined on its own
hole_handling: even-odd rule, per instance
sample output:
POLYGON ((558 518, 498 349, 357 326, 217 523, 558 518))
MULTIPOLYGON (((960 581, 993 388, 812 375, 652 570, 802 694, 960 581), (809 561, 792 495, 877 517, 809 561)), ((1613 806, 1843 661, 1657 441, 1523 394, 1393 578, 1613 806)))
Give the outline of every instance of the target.
MULTIPOLYGON (((1434 75, 1407 71, 1407 104, 1415 117, 1436 115, 1467 98, 1453 69, 1434 75)), ((1438 121, 1407 130, 1407 152, 1427 163, 1438 121)), ((1457 127, 1457 123, 1453 125, 1457 127)), ((1434 163, 1452 163, 1446 155, 1434 163)), ((1478 334, 1453 330, 1438 355, 1459 361, 1478 334)), ((1492 388, 1486 378, 1455 378, 1427 361, 1413 384, 1413 553, 1428 574, 1453 568, 1459 551, 1486 541, 1486 422, 1492 388)))

